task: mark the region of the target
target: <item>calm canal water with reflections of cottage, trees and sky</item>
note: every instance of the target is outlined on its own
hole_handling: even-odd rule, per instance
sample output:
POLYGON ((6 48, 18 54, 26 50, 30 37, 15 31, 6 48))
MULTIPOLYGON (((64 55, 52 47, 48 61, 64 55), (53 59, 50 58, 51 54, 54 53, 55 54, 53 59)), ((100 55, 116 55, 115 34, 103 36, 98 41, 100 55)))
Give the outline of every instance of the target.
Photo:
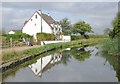
POLYGON ((3 82, 118 82, 118 60, 98 46, 47 53, 3 73, 3 82))

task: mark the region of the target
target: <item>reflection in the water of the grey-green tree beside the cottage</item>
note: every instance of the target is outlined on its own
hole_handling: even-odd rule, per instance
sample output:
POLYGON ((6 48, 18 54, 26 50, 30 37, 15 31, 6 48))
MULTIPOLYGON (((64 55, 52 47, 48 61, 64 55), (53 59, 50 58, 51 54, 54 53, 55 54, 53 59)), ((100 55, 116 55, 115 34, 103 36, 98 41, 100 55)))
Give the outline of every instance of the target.
POLYGON ((67 65, 67 62, 70 61, 70 58, 71 58, 71 52, 70 51, 63 51, 61 63, 63 63, 64 65, 67 65))

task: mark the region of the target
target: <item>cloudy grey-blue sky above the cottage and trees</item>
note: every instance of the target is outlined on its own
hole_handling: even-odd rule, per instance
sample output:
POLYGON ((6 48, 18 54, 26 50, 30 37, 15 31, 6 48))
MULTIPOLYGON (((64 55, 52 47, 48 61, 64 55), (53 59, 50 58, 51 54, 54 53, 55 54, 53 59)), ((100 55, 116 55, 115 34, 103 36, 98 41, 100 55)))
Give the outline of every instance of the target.
POLYGON ((71 24, 85 21, 94 34, 104 34, 105 28, 112 29, 118 2, 2 2, 2 28, 6 32, 21 30, 24 22, 39 9, 44 14, 50 13, 57 21, 65 17, 71 24))

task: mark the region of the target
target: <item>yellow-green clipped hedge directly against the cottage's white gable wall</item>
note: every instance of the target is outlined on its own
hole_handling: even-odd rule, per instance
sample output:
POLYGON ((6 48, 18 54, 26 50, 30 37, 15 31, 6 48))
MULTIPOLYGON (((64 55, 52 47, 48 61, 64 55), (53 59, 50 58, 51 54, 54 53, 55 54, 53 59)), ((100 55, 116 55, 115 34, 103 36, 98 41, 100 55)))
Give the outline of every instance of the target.
POLYGON ((37 33, 37 40, 38 40, 38 42, 40 42, 40 41, 50 41, 50 40, 54 40, 54 39, 55 39, 54 34, 37 33))

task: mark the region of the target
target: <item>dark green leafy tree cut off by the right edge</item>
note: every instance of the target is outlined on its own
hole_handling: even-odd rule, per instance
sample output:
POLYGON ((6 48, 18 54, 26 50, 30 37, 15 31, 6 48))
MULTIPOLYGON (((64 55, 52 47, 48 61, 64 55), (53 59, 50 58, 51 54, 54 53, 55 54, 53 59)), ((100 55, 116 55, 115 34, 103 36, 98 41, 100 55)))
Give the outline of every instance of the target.
POLYGON ((120 13, 117 14, 117 17, 112 21, 113 30, 109 33, 109 36, 112 38, 120 37, 120 13))

